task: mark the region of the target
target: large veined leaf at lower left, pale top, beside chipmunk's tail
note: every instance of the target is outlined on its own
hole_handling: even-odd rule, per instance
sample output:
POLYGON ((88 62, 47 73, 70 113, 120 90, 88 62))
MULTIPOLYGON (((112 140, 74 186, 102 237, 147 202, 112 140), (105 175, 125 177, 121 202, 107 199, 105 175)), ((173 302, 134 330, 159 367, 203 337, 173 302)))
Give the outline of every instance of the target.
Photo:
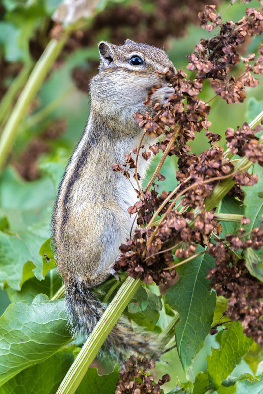
POLYGON ((0 318, 0 384, 67 344, 67 323, 63 300, 38 295, 32 305, 9 305, 0 318))

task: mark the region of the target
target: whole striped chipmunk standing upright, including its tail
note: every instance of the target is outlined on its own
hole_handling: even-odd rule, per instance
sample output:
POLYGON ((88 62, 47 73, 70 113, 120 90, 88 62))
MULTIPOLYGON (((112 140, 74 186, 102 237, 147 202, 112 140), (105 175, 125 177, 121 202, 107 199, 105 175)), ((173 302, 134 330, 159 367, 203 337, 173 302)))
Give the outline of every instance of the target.
MULTIPOLYGON (((61 181, 52 220, 73 332, 83 330, 86 337, 105 310, 92 288, 114 273, 119 246, 130 238, 133 218, 127 209, 138 199, 130 182, 113 172, 112 165, 122 163, 125 153, 139 146, 143 131, 134 113, 153 114, 154 105, 166 103, 174 93, 168 77, 156 70, 168 67, 175 74, 173 63, 159 48, 131 40, 118 46, 101 41, 98 47, 101 63, 90 83, 90 115, 61 181), (161 87, 146 107, 143 101, 155 84, 161 87)), ((145 136, 147 143, 153 143, 152 137, 145 136)), ((141 178, 149 161, 139 157, 141 178)), ((136 188, 135 180, 131 182, 136 188)), ((152 350, 152 342, 119 320, 106 346, 123 358, 127 352, 158 351, 152 350)))

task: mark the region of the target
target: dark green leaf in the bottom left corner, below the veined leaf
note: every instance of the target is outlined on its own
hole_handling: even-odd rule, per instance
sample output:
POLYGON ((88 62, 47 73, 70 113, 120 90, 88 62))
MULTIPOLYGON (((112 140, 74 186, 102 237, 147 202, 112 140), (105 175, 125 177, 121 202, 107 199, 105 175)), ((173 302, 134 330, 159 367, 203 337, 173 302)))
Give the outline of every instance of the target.
POLYGON ((72 354, 58 352, 18 373, 1 387, 1 394, 55 394, 73 361, 72 354))

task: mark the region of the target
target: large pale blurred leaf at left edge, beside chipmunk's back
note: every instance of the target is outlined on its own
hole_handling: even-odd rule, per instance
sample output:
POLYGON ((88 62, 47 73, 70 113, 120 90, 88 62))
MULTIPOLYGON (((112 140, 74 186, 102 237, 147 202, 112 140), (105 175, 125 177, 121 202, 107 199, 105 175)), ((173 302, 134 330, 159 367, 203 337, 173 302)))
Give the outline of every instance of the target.
POLYGON ((42 256, 39 254, 41 245, 50 235, 54 198, 55 188, 47 176, 38 181, 25 182, 10 168, 2 175, 0 210, 9 225, 8 229, 0 231, 2 286, 7 283, 13 289, 20 290, 31 277, 44 279, 47 271, 54 266, 54 259, 43 259, 44 253, 42 256))

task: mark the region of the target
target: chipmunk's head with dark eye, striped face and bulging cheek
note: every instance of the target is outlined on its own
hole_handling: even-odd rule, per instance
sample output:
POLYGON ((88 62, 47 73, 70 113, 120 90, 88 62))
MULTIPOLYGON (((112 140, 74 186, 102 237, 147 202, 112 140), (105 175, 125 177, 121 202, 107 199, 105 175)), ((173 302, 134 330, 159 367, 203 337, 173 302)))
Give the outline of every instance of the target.
POLYGON ((100 101, 100 108, 104 103, 108 114, 142 103, 153 85, 168 85, 176 71, 162 49, 131 40, 123 45, 101 41, 99 53, 99 73, 90 84, 91 102, 94 107, 100 101), (164 69, 169 75, 158 73, 164 69))

